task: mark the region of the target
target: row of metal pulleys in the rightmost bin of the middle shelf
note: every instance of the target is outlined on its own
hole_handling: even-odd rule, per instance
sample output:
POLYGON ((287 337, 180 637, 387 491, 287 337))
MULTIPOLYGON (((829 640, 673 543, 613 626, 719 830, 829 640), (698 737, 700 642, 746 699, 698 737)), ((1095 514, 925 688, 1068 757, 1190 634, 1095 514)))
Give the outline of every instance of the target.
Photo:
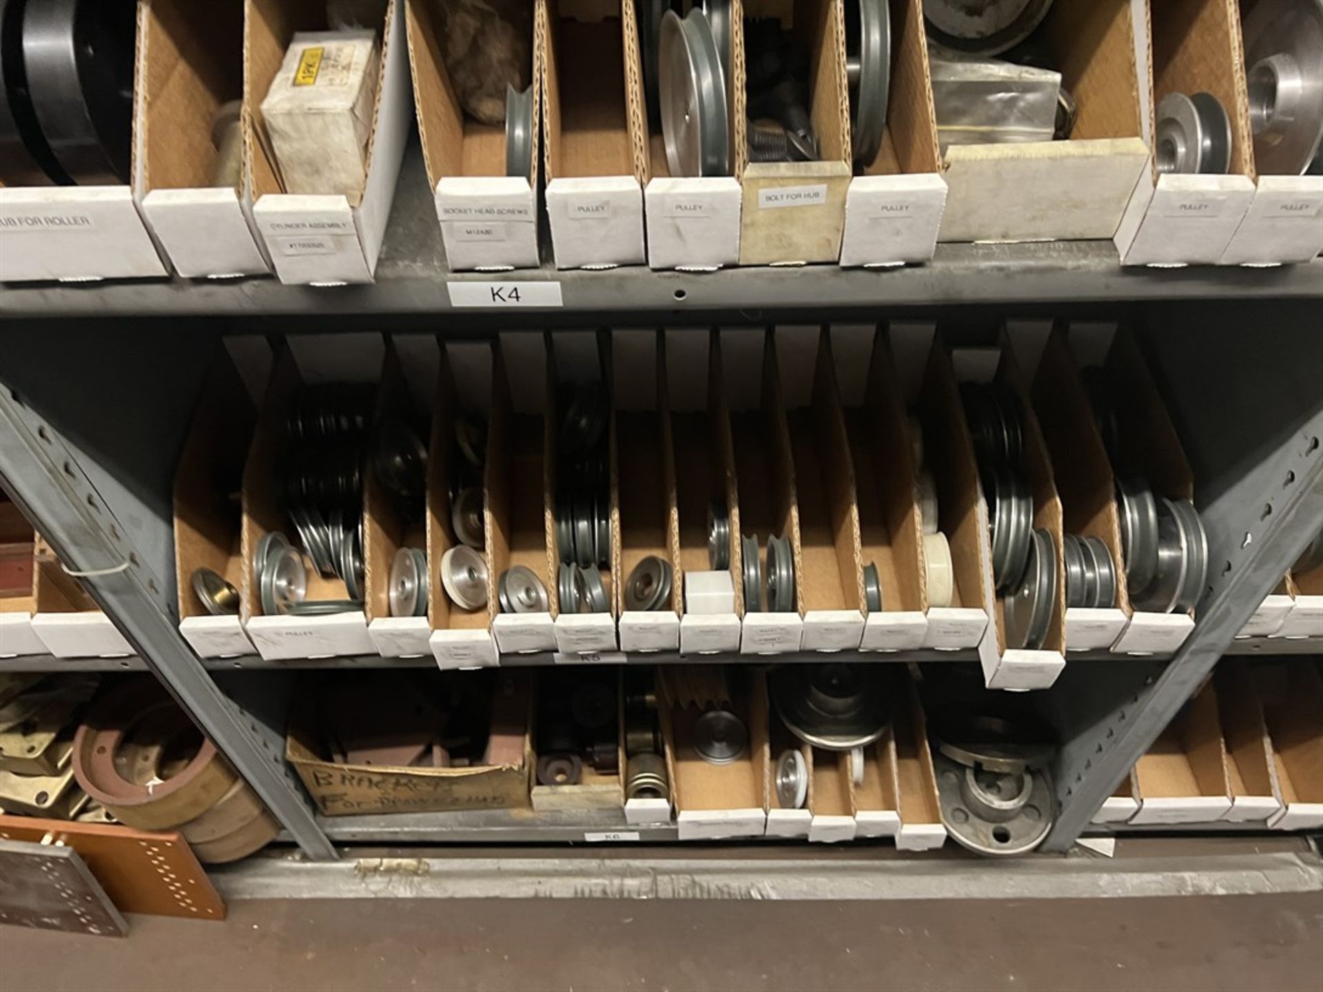
POLYGON ((1152 491, 1122 438, 1118 405, 1123 398, 1115 395, 1103 370, 1086 369, 1085 382, 1117 474, 1121 554, 1130 602, 1143 612, 1189 612, 1208 578, 1208 536, 1199 511, 1189 500, 1152 491))

